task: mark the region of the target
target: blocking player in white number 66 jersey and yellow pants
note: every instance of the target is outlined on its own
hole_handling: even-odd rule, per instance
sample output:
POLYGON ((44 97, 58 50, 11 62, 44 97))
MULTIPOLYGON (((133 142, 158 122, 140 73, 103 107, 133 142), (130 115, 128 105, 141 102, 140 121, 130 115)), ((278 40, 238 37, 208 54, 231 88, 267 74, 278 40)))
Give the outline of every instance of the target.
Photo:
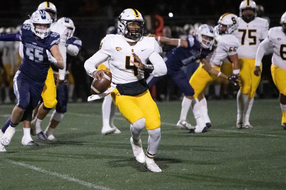
POLYGON ((219 25, 215 27, 217 31, 217 42, 214 47, 214 52, 211 55, 209 63, 205 62, 200 64, 198 69, 192 75, 189 83, 194 88, 195 101, 192 102, 193 112, 197 121, 195 132, 204 132, 204 124, 211 123, 207 110, 206 98, 203 95, 203 89, 208 83, 217 79, 217 77, 223 77, 229 79, 234 85, 237 85, 237 75, 239 73, 237 48, 240 43, 238 39, 232 34, 237 28, 237 16, 231 13, 222 15, 218 21, 219 25), (225 58, 229 57, 233 62, 233 76, 227 77, 220 72, 220 66, 225 58), (209 66, 208 66, 209 65, 209 66), (211 68, 208 68, 211 67, 211 68), (202 113, 203 122, 199 121, 200 113, 202 113), (200 123, 203 123, 200 124, 200 123))

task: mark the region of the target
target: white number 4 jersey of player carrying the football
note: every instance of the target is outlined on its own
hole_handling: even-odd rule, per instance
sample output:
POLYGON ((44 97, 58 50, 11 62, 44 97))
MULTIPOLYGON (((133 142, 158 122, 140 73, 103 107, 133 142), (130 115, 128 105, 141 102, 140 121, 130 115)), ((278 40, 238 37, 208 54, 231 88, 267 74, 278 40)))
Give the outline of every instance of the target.
POLYGON ((166 64, 159 55, 160 47, 154 37, 142 37, 135 45, 131 46, 125 41, 123 35, 108 34, 100 43, 100 50, 85 63, 87 73, 92 76, 95 67, 109 58, 110 72, 113 84, 131 83, 144 78, 144 71, 134 66, 132 52, 141 59, 143 64, 149 58, 154 66, 153 76, 167 73, 166 64))

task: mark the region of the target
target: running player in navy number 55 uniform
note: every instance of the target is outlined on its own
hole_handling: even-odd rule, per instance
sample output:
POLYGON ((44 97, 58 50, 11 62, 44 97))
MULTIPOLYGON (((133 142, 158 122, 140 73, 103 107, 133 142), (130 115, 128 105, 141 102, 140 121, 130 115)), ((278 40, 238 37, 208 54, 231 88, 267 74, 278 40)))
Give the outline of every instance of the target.
MULTIPOLYGON (((50 33, 52 19, 45 11, 35 11, 31 24, 21 26, 20 33, 0 36, 1 41, 21 41, 24 45, 24 59, 14 77, 14 93, 17 104, 12 116, 0 132, 1 144, 9 145, 15 133, 15 127, 24 121, 25 133, 30 133, 32 110, 38 104, 50 64, 63 68, 63 58, 60 54, 58 43, 60 36, 50 33), (52 54, 51 54, 52 52, 52 54)), ((23 145, 35 145, 31 136, 22 138, 23 145)), ((0 151, 5 151, 3 146, 0 151)))

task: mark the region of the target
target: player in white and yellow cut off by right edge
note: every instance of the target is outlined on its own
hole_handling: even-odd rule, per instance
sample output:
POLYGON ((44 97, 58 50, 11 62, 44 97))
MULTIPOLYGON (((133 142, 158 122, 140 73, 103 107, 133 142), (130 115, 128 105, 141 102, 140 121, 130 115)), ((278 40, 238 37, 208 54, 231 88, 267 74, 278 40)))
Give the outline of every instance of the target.
POLYGON ((281 124, 286 129, 286 12, 282 15, 280 24, 282 26, 271 28, 268 31, 268 37, 260 43, 256 53, 254 75, 261 74, 262 57, 269 49, 273 49, 271 75, 280 93, 281 124))

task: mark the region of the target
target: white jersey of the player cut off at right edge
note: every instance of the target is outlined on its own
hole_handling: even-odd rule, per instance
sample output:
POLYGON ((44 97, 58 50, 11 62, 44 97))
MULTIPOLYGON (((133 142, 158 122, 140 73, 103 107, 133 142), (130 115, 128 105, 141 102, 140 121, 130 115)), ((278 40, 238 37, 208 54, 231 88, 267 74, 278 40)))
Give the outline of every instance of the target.
POLYGON ((282 26, 273 27, 268 31, 268 37, 261 42, 257 50, 255 64, 259 65, 267 50, 273 48, 272 64, 286 70, 286 34, 282 26))

